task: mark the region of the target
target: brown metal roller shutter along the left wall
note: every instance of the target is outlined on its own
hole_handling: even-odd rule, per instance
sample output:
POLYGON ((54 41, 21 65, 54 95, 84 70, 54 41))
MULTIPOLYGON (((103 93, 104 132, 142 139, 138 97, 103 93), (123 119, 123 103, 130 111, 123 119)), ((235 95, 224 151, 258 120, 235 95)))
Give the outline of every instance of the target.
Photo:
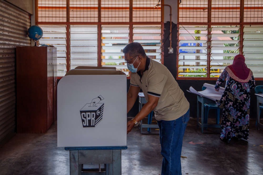
POLYGON ((31 46, 30 16, 0 0, 0 143, 16 127, 16 47, 31 46))

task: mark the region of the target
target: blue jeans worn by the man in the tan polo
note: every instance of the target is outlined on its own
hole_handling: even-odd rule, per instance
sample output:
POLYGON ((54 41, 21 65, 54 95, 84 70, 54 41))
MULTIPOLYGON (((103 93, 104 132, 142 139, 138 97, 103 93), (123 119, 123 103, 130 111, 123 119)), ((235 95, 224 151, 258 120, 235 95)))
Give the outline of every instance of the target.
POLYGON ((160 128, 161 155, 163 155, 162 175, 181 175, 181 151, 189 109, 176 120, 157 121, 160 128))

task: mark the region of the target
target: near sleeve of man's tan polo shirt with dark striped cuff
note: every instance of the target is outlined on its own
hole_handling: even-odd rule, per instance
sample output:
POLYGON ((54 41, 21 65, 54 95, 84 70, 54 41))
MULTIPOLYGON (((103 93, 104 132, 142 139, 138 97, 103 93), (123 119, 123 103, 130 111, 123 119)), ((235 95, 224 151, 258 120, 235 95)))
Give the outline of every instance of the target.
POLYGON ((160 97, 166 81, 167 76, 164 74, 154 74, 154 76, 151 76, 148 81, 147 94, 160 97))

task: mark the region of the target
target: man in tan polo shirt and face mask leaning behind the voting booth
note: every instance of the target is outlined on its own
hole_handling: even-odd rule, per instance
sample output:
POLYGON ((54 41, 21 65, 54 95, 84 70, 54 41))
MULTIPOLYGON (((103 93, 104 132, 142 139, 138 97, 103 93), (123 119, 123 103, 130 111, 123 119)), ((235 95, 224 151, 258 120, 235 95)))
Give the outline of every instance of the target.
POLYGON ((147 103, 127 123, 127 134, 138 122, 155 113, 160 128, 162 175, 181 173, 181 150, 183 136, 189 121, 189 102, 170 71, 145 54, 140 43, 130 43, 124 49, 124 59, 131 71, 130 88, 127 93, 127 113, 133 107, 140 89, 147 103))

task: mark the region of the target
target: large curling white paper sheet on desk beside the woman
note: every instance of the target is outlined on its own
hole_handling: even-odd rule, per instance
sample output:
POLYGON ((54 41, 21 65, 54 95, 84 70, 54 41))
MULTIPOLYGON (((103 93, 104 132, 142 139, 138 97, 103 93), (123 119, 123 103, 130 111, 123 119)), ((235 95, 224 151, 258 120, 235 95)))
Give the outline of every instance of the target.
POLYGON ((215 85, 211 85, 208 83, 205 83, 203 86, 206 87, 206 89, 203 91, 196 91, 192 86, 187 91, 216 101, 221 99, 222 94, 224 93, 225 90, 224 88, 220 87, 219 91, 215 91, 215 85))

